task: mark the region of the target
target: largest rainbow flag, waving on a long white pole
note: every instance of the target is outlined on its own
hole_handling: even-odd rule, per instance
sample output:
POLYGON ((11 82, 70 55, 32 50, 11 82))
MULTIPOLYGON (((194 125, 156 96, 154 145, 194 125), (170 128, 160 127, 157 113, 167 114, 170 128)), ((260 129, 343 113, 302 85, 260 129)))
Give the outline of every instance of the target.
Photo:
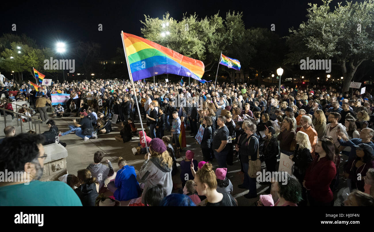
POLYGON ((201 80, 204 74, 202 61, 123 31, 121 37, 134 81, 165 73, 201 80))

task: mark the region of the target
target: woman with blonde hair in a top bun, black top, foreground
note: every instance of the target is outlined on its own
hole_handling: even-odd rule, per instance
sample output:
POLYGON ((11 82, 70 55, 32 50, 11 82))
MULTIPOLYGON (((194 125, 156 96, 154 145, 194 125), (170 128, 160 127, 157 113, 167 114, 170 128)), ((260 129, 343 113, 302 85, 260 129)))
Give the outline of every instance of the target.
POLYGON ((206 196, 206 206, 236 206, 237 201, 231 194, 217 192, 217 176, 211 163, 206 163, 195 174, 196 191, 206 196))

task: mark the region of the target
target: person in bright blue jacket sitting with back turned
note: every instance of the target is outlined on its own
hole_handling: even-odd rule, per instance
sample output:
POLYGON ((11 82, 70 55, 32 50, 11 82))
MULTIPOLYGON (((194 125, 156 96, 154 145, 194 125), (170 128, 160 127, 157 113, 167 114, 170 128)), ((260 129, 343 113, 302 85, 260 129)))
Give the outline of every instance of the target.
POLYGON ((108 189, 113 192, 114 198, 118 201, 138 198, 141 189, 134 166, 129 166, 126 160, 119 157, 118 167, 120 170, 117 171, 116 179, 108 183, 108 189))

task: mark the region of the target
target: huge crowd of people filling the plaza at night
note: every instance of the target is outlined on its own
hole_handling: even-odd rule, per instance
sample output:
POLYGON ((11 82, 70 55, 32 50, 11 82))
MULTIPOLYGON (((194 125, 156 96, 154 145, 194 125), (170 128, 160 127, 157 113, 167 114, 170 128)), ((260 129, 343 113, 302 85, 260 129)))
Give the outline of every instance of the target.
MULTIPOLYGON (((343 180, 351 192, 346 205, 374 205, 373 89, 360 95, 358 91, 342 92, 340 87, 324 85, 282 86, 278 90, 276 86, 247 83, 134 84, 135 91, 129 81, 117 79, 65 81, 36 90, 27 83, 18 86, 14 81, 5 81, 0 93, 5 99, 12 101, 10 91, 18 90, 22 96, 17 94, 15 100, 28 100, 39 111, 42 121, 49 124, 52 123, 46 109, 53 105, 50 94, 70 94, 65 105, 53 105, 52 116, 73 115, 80 120, 73 120, 67 132, 53 129, 57 136, 75 132, 84 141, 95 139, 99 134, 110 133, 111 121, 117 117, 116 123, 122 128, 116 140, 126 143, 135 136, 140 138, 134 152, 145 155, 138 173, 140 183, 135 168, 124 159, 118 160, 120 170, 115 172, 108 160, 108 167, 100 163, 103 154, 96 152, 93 164, 62 179, 71 188, 70 191, 64 186, 64 191, 70 196, 74 190, 80 199, 78 202, 71 197, 70 203, 62 205, 95 205, 101 189, 107 188, 118 201, 141 197, 142 205, 203 202, 206 206, 234 206, 237 201, 232 196, 233 185, 226 177, 233 162, 239 160, 238 174, 243 177, 243 183, 237 187, 248 191, 245 198, 256 198, 254 163, 260 160, 267 171, 276 172, 281 153, 294 162, 293 171, 277 172, 279 178, 264 183, 269 185, 269 195, 261 195, 258 206, 334 205, 334 192, 343 180), (147 124, 144 133, 135 127, 139 120, 137 107, 147 124), (196 141, 203 156, 200 163, 194 160, 192 151, 183 155, 186 131, 191 136, 201 133, 201 142, 196 141), (172 194, 172 175, 178 172, 176 160, 180 157, 184 157, 180 163, 182 188, 178 194, 172 194), (213 164, 218 168, 214 170, 213 164)), ((38 180, 43 167, 40 160, 37 162, 43 157, 41 138, 28 136, 13 134, 4 139, 7 146, 1 145, 6 152, 0 156, 0 167, 27 171, 26 164, 30 164, 35 173, 33 179, 38 180), (13 147, 18 140, 39 142, 28 145, 32 155, 25 156, 26 151, 13 147), (14 159, 15 156, 22 159, 14 159)), ((38 185, 39 191, 50 188, 45 183, 38 185)), ((17 191, 21 189, 1 186, 0 202, 22 204, 13 199, 17 191)), ((30 198, 23 204, 36 202, 39 201, 30 198)))

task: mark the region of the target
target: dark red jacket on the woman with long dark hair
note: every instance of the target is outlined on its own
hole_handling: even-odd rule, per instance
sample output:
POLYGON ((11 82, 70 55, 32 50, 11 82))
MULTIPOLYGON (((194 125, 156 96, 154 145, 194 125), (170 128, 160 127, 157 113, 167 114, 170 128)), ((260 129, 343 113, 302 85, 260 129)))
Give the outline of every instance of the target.
POLYGON ((305 186, 310 189, 310 195, 315 201, 327 203, 331 202, 334 197, 330 189, 331 181, 335 178, 336 167, 334 161, 328 160, 327 157, 321 158, 319 155, 313 160, 306 170, 304 177, 305 186))

